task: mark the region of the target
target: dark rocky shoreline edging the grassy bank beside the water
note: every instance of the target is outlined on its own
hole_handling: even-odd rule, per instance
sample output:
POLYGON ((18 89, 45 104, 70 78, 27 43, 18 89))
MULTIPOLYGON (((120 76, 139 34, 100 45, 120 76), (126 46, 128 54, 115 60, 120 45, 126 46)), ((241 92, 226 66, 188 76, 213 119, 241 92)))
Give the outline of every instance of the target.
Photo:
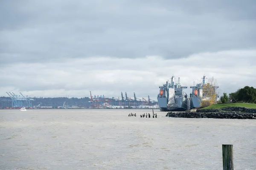
POLYGON ((169 112, 167 117, 214 118, 214 119, 256 119, 256 109, 228 107, 222 109, 200 109, 186 112, 169 112))

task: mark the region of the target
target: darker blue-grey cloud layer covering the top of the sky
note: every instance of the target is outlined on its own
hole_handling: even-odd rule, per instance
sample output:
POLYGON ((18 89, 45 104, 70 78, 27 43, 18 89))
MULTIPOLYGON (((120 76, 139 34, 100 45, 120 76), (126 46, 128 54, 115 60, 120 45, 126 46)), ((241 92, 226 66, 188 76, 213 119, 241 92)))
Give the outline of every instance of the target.
POLYGON ((255 48, 256 2, 3 1, 0 62, 255 48))

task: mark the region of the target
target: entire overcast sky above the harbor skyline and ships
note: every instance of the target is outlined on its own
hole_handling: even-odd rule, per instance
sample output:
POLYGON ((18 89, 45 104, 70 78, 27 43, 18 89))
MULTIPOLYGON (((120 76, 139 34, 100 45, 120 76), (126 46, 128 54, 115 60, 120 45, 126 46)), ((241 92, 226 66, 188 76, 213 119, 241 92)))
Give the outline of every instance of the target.
POLYGON ((150 96, 172 75, 256 88, 255 0, 0 1, 0 96, 150 96))

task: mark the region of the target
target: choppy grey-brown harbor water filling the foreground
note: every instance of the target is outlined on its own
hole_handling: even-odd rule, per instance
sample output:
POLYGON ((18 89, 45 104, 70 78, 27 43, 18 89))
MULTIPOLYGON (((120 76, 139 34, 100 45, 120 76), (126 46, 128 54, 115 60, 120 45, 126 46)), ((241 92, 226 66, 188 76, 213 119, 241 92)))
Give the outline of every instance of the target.
POLYGON ((221 144, 235 170, 256 170, 256 120, 146 112, 0 110, 0 170, 222 170, 221 144))

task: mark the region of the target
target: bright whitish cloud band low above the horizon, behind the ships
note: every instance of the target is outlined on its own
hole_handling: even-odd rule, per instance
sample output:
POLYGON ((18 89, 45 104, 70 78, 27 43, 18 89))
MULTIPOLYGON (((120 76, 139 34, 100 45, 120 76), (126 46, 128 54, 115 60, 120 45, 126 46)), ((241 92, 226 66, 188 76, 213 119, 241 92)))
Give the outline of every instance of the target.
MULTIPOLYGON (((151 96, 156 100, 158 86, 173 74, 180 77, 182 85, 201 82, 206 74, 215 77, 220 93, 231 93, 256 82, 256 50, 219 51, 194 54, 183 59, 161 57, 85 58, 63 62, 15 64, 0 70, 0 95, 5 91, 21 91, 30 96, 120 96, 126 91, 132 97, 151 96), (26 69, 24 69, 26 68, 26 69), (18 71, 14 71, 18 70, 18 71)), ((177 79, 176 79, 177 81, 177 79)), ((191 92, 188 88, 187 94, 191 92)))

